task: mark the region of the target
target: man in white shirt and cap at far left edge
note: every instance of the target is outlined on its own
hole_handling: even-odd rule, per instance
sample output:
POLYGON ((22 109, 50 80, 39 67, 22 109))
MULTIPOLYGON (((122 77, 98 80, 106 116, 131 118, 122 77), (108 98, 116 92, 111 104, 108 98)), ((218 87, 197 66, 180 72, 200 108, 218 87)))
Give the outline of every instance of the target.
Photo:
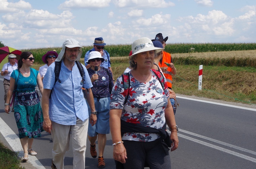
MULTIPOLYGON (((9 54, 8 55, 8 63, 5 63, 3 65, 1 75, 4 76, 4 103, 6 103, 6 97, 7 97, 7 92, 10 87, 10 77, 12 74, 13 70, 16 70, 18 68, 18 64, 15 62, 16 55, 15 54, 9 54)), ((13 112, 13 108, 12 108, 13 112)))

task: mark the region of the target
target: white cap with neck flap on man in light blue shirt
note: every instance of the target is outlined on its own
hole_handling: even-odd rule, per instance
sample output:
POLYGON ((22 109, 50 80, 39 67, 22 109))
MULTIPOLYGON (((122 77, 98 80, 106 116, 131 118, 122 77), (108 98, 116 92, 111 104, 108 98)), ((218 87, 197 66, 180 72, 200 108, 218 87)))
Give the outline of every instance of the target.
POLYGON ((66 47, 69 47, 69 48, 80 47, 80 52, 77 54, 77 59, 76 59, 77 61, 79 61, 81 56, 82 56, 82 49, 81 48, 83 48, 83 47, 80 46, 79 42, 77 40, 73 39, 73 38, 68 38, 63 42, 61 52, 59 53, 59 55, 58 55, 58 57, 56 58, 55 61, 61 61, 61 59, 63 59, 62 57, 65 53, 66 47))

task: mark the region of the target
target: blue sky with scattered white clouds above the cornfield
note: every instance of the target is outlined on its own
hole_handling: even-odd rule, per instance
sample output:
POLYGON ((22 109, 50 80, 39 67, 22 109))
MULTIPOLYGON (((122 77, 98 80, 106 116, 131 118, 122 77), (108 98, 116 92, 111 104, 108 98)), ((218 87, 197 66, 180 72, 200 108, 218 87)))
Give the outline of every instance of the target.
POLYGON ((16 49, 60 47, 72 37, 92 45, 255 43, 255 0, 0 0, 0 41, 16 49))

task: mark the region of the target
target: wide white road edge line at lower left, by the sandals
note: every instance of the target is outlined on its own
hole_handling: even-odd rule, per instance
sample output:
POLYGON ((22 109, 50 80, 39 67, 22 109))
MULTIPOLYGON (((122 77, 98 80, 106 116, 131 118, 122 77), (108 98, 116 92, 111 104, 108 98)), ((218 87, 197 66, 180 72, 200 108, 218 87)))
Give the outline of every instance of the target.
MULTIPOLYGON (((11 128, 0 118, 0 132, 9 143, 13 151, 18 153, 18 157, 23 157, 23 149, 20 144, 19 137, 11 130, 11 128)), ((31 163, 37 169, 45 169, 45 167, 39 162, 35 156, 28 157, 28 162, 31 163)))

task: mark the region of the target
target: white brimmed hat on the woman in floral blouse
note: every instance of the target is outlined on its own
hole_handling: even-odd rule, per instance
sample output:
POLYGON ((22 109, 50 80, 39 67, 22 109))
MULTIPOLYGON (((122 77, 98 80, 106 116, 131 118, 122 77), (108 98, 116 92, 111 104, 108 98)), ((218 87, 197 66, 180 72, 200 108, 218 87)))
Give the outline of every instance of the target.
POLYGON ((164 48, 154 47, 153 42, 147 37, 139 38, 133 42, 132 44, 133 54, 129 56, 129 58, 132 58, 135 54, 145 52, 145 51, 150 51, 150 50, 155 50, 155 52, 158 53, 164 50, 164 48))

